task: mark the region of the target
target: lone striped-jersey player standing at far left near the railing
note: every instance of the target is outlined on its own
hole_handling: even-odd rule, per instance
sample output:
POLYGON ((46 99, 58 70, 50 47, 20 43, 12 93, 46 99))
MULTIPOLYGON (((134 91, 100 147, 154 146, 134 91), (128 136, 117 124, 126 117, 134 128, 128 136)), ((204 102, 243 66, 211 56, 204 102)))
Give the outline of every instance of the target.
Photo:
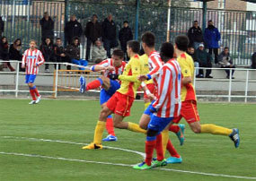
POLYGON ((40 93, 33 83, 35 82, 37 73, 39 73, 39 66, 44 63, 44 57, 36 47, 36 41, 31 40, 30 48, 24 52, 22 57, 22 68, 26 68, 26 83, 30 88, 32 98, 29 104, 38 104, 41 99, 40 93))

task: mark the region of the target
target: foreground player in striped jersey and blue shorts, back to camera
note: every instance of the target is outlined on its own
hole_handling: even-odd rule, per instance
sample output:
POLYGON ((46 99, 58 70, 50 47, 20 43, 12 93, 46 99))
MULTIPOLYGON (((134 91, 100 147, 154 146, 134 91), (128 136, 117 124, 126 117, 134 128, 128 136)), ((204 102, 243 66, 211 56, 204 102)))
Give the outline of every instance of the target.
POLYGON ((181 68, 173 59, 172 43, 165 42, 161 47, 161 55, 165 63, 157 77, 156 100, 147 110, 152 112, 146 132, 146 159, 134 166, 136 169, 149 169, 167 164, 163 157, 163 129, 172 122, 174 116, 180 115, 181 109, 181 68), (152 161, 154 148, 157 159, 152 161))

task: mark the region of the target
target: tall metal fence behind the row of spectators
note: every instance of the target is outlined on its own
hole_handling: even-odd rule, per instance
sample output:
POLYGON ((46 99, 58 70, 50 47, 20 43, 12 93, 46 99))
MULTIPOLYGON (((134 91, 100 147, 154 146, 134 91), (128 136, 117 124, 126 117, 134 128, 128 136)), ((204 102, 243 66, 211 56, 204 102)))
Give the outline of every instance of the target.
MULTIPOLYGON (((4 36, 9 42, 22 38, 24 49, 28 47, 29 39, 40 42, 40 19, 46 11, 55 22, 55 38, 64 39, 65 17, 69 18, 71 14, 75 14, 85 28, 92 14, 98 14, 99 21, 103 21, 108 13, 112 13, 117 31, 122 27, 123 21, 127 20, 135 33, 137 5, 125 2, 102 4, 69 1, 65 6, 64 2, 59 1, 1 0, 0 15, 5 24, 4 36)), ((173 41, 176 35, 186 34, 194 20, 202 24, 202 9, 171 7, 170 25, 167 24, 167 6, 141 4, 138 13, 138 36, 146 30, 153 31, 157 48, 166 40, 167 26, 170 26, 170 38, 173 41)), ((252 53, 256 50, 256 12, 208 10, 207 20, 213 20, 221 32, 220 50, 230 47, 236 65, 250 65, 252 53)), ((83 49, 85 40, 83 36, 83 49)), ((84 53, 85 51, 82 52, 82 57, 85 57, 84 53)))

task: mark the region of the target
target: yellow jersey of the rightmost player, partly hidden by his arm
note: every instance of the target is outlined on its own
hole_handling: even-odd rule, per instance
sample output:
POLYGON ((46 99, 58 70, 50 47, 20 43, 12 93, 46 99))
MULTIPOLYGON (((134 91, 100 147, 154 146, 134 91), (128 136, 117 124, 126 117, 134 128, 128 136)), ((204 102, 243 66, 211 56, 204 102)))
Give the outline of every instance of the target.
MULTIPOLYGON (((183 77, 191 77, 194 79, 194 61, 190 55, 187 53, 181 54, 177 58, 180 66, 181 66, 181 75, 183 77)), ((192 81, 193 82, 193 81, 192 81)), ((189 83, 186 86, 182 85, 181 87, 181 101, 185 100, 197 100, 196 92, 193 86, 193 83, 189 83)))

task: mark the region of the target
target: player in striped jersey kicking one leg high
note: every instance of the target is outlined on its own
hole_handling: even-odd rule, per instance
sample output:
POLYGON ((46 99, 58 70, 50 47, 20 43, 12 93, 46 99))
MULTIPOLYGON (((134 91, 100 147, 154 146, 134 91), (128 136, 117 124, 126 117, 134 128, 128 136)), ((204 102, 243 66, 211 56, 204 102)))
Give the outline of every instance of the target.
MULTIPOLYGON (((102 63, 98 65, 93 65, 91 67, 93 72, 104 71, 104 73, 100 78, 88 83, 87 85, 84 76, 81 76, 79 80, 81 84, 80 92, 84 93, 86 90, 94 90, 96 88, 102 87, 100 93, 100 104, 103 108, 110 97, 116 92, 116 90, 119 90, 120 88, 120 82, 118 79, 115 79, 115 77, 117 77, 119 74, 122 74, 124 71, 126 63, 123 61, 123 59, 124 52, 120 49, 115 49, 111 58, 102 61, 102 63)), ((107 118, 106 129, 109 135, 102 141, 117 141, 118 138, 114 132, 113 119, 111 115, 107 118)))

